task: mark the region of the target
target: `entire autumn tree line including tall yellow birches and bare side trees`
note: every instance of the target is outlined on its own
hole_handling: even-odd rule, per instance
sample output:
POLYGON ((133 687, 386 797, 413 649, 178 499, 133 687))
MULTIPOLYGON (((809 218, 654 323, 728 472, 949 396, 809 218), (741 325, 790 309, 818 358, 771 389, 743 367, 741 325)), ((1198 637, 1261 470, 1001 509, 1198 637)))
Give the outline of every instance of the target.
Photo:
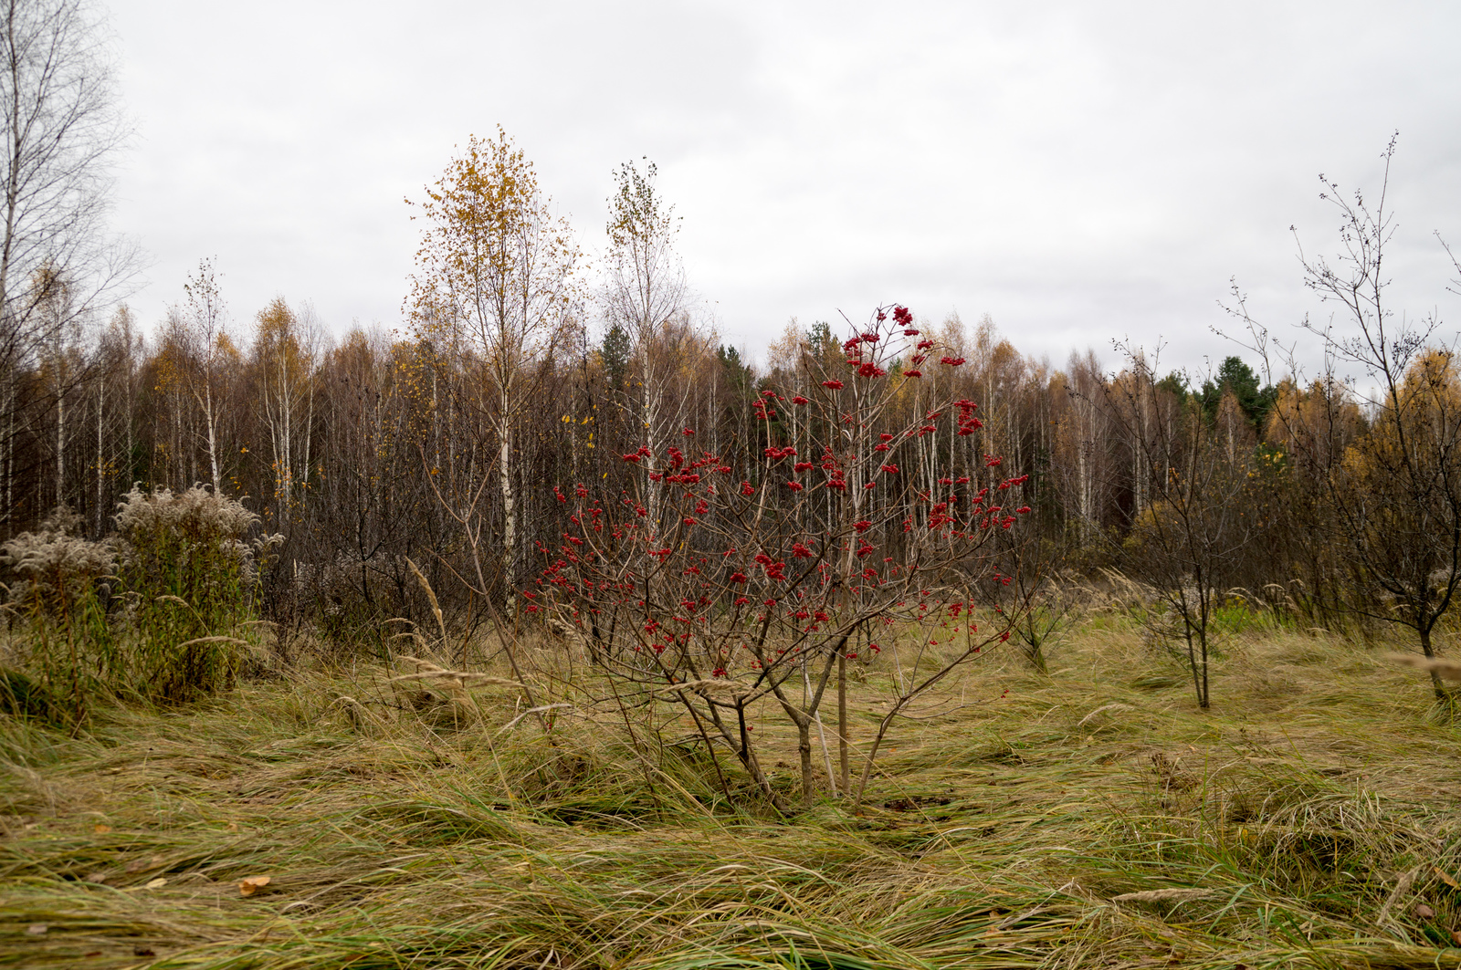
MULTIPOLYGON (((1398 622, 1433 653, 1461 576, 1461 408, 1442 323, 1389 308, 1384 191, 1372 203, 1325 181, 1340 250, 1305 257, 1303 282, 1340 329, 1306 323, 1308 345, 1284 346, 1235 294, 1246 349, 1207 375, 1121 343, 1115 367, 1091 351, 1056 367, 988 317, 894 304, 871 323, 792 321, 755 367, 700 313, 653 164, 614 172, 590 273, 501 129, 408 200, 421 245, 399 329, 335 333, 282 297, 238 320, 203 260, 149 330, 117 302, 131 253, 104 232, 104 162, 124 131, 95 25, 63 0, 6 16, 0 539, 63 520, 101 538, 134 485, 205 484, 248 497, 283 536, 259 573, 283 630, 383 643, 387 619, 425 608, 413 564, 468 630, 517 624, 523 590, 581 526, 564 489, 634 497, 638 535, 669 535, 666 488, 687 460, 713 456, 754 492, 798 456, 796 475, 827 470, 779 482, 811 489, 798 535, 818 516, 828 535, 846 526, 833 492, 878 482, 820 448, 852 421, 839 394, 863 402, 882 381, 858 432, 903 431, 853 451, 894 469, 856 504, 871 530, 858 542, 888 561, 918 548, 904 510, 954 522, 961 498, 1018 479, 1005 576, 1031 596, 1107 567, 1147 583, 1202 703, 1233 596, 1311 624, 1398 622), (897 352, 875 345, 894 337, 897 352), (1325 364, 1306 375, 1311 351, 1325 364)), ((980 503, 982 526, 1004 522, 980 503)))

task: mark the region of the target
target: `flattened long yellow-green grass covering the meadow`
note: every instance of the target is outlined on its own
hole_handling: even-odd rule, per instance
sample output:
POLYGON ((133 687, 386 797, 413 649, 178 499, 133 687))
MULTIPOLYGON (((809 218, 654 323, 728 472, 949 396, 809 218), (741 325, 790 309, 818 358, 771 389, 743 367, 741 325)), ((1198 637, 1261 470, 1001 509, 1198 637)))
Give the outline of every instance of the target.
POLYGON ((1461 967, 1461 730, 1386 652, 1249 634, 1204 713, 1091 624, 901 725, 859 815, 790 820, 552 682, 548 739, 511 688, 463 723, 365 666, 76 738, 0 716, 0 964, 1461 967))

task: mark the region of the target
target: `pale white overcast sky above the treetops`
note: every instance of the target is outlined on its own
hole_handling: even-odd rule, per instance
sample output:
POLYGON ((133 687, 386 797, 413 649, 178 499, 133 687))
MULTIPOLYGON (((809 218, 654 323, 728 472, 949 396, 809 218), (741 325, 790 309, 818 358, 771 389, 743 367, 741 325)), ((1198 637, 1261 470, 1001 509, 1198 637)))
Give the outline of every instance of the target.
MULTIPOLYGON (((1169 342, 1201 368, 1236 276, 1283 330, 1316 304, 1318 174, 1400 150, 1394 299, 1439 308, 1461 250, 1457 3, 291 3, 114 0, 115 226, 148 323, 213 256, 234 320, 275 295, 336 333, 402 323, 421 197, 497 124, 603 244, 649 156, 691 283, 760 355, 790 317, 985 313, 1062 364, 1169 342)), ((1452 327, 1454 329, 1454 327, 1452 327)))

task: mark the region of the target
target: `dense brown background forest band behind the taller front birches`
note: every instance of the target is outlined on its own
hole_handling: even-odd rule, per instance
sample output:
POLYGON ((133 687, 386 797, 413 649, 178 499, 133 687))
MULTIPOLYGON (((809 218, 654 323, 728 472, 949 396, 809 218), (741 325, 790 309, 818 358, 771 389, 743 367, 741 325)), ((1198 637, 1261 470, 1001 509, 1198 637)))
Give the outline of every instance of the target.
MULTIPOLYGON (((539 549, 564 529, 552 486, 643 486, 663 469, 668 447, 685 446, 685 428, 695 448, 751 478, 764 448, 814 437, 789 402, 809 396, 814 378, 843 359, 828 323, 789 324, 754 367, 687 307, 631 330, 581 313, 587 305, 557 321, 551 346, 511 361, 511 377, 495 380, 503 359, 437 320, 332 336, 308 304, 276 298, 244 326, 225 326, 205 263, 150 335, 118 307, 19 370, 10 393, 23 406, 10 410, 0 441, 3 538, 38 527, 56 508, 101 538, 133 484, 202 482, 247 497, 262 527, 283 533, 264 602, 343 635, 411 608, 408 558, 447 599, 460 589, 463 611, 470 593, 454 573, 511 602, 539 549), (767 393, 776 399, 763 418, 767 393), (641 447, 649 460, 624 460, 641 447), (466 571, 473 542, 491 549, 482 576, 466 571)), ((1029 533, 1046 558, 1150 576, 1141 526, 1170 504, 1173 469, 1208 450, 1204 460, 1262 482, 1245 492, 1252 523, 1218 584, 1262 589, 1302 577, 1322 590, 1335 581, 1303 541, 1313 524, 1303 507, 1262 498, 1264 489, 1277 495, 1292 469, 1278 416, 1312 408, 1315 390, 1261 384, 1236 355, 1191 381, 1157 375, 1140 352, 1115 373, 1093 352, 1056 368, 1020 354, 988 317, 972 327, 957 316, 918 326, 947 362, 899 361, 890 421, 906 424, 922 402, 953 397, 976 406, 980 427, 961 435, 948 425, 899 446, 888 457, 906 469, 910 492, 939 491, 935 469, 979 481, 986 456, 1001 456, 1004 470, 1030 476, 1029 533)), ((1334 447, 1370 424, 1359 402, 1347 402, 1334 447)), ((653 503, 657 492, 647 494, 653 503)), ((650 517, 660 517, 657 508, 650 517)))

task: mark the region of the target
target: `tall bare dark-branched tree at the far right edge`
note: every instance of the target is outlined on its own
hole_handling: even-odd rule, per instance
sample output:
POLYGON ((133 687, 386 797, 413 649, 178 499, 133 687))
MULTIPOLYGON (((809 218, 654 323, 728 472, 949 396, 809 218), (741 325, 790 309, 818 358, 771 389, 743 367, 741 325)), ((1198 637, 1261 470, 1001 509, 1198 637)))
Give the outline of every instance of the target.
MULTIPOLYGON (((1385 148, 1379 196, 1354 191, 1319 175, 1321 199, 1340 216, 1340 250, 1331 260, 1299 247, 1303 283, 1321 302, 1338 305, 1340 321, 1305 318, 1306 348, 1322 354, 1322 370, 1308 396, 1275 408, 1277 431, 1330 508, 1330 532, 1359 578, 1346 603, 1369 618, 1408 627, 1426 657, 1432 633, 1461 593, 1461 377, 1455 335, 1430 314, 1395 314, 1388 294, 1386 247, 1395 222, 1386 207, 1395 139, 1385 148), (1359 405, 1369 432, 1335 447, 1344 413, 1359 405)), ((1451 264, 1461 263, 1442 241, 1451 264)), ((1452 283, 1452 292, 1461 282, 1452 283)), ((1302 387, 1300 345, 1280 343, 1248 311, 1235 288, 1227 307, 1248 330, 1270 373, 1302 387)), ((1271 378, 1270 378, 1271 380, 1271 378)), ((1451 700, 1430 673, 1436 698, 1451 700)))

